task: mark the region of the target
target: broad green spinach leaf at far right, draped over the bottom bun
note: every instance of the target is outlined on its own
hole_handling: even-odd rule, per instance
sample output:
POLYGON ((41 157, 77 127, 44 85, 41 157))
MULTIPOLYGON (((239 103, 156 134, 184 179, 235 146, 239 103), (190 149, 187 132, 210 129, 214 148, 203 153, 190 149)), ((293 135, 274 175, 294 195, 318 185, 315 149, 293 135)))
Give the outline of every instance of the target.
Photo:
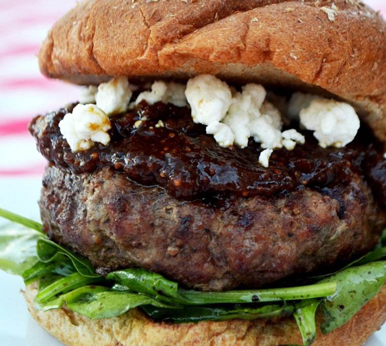
POLYGON ((327 334, 342 326, 373 298, 386 280, 386 261, 348 268, 323 282, 337 282, 336 292, 321 302, 325 317, 321 331, 327 334))

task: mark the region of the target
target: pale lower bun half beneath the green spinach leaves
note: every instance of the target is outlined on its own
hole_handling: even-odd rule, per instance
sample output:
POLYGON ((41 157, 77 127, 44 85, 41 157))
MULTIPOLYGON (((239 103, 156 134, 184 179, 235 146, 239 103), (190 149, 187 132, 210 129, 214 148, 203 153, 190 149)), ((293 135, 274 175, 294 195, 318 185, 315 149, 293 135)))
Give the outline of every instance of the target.
MULTIPOLYGON (((68 346, 278 346, 302 344, 293 318, 233 320, 172 325, 155 323, 139 309, 92 321, 66 307, 39 311, 34 307, 37 284, 24 297, 34 319, 68 346)), ((321 316, 317 316, 320 326, 321 316)), ((344 326, 318 334, 313 346, 360 346, 386 320, 386 285, 344 326)))

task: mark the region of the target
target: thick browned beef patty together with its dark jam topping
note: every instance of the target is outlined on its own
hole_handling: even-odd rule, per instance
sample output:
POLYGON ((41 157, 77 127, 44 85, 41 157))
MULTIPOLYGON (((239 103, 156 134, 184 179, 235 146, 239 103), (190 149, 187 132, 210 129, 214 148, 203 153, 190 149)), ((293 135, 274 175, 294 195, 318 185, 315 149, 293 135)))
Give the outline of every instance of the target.
POLYGON ((374 198, 385 160, 361 135, 322 149, 305 134, 264 168, 260 146, 221 148, 188 110, 142 104, 112 118, 108 146, 73 153, 57 125, 72 107, 30 125, 50 161, 42 221, 100 273, 136 266, 203 290, 258 288, 365 254, 386 225, 374 198))

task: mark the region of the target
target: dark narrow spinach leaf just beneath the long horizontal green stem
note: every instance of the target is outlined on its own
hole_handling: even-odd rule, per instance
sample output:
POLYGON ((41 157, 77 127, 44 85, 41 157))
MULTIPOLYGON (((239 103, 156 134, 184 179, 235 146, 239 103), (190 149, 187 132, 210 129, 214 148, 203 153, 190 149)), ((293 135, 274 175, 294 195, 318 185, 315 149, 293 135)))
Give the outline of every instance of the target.
POLYGON ((197 323, 201 321, 227 321, 233 319, 255 320, 283 315, 291 315, 295 310, 290 305, 264 305, 261 307, 230 306, 185 306, 182 309, 166 309, 154 306, 142 306, 142 309, 155 321, 174 323, 197 323))

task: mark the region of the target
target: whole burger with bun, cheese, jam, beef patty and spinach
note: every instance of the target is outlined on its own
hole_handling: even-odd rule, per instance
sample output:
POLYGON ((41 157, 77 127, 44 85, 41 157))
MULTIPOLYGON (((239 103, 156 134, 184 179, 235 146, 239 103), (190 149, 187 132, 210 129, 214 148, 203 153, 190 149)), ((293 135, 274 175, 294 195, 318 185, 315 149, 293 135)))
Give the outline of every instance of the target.
POLYGON ((363 344, 385 43, 357 0, 79 2, 39 53, 84 86, 29 124, 42 224, 0 210, 34 319, 69 346, 363 344))

